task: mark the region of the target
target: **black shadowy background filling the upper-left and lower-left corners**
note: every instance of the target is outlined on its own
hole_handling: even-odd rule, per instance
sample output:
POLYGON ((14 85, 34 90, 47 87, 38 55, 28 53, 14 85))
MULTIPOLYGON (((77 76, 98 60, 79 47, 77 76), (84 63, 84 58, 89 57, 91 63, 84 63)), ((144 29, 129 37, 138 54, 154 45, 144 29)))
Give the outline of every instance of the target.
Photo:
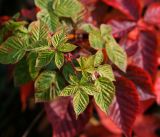
MULTIPOLYGON (((0 16, 13 16, 23 8, 32 9, 33 0, 0 0, 0 16)), ((43 105, 32 98, 22 109, 20 89, 12 79, 13 66, 0 64, 0 137, 51 137, 43 105)))

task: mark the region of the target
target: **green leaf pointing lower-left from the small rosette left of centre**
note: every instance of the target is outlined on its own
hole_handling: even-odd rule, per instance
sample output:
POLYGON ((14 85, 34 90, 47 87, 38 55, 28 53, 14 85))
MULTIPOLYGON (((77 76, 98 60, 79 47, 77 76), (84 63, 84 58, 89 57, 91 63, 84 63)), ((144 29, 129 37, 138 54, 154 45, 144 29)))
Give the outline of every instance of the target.
POLYGON ((37 68, 42 68, 47 66, 53 59, 54 53, 53 51, 42 51, 38 53, 38 57, 36 59, 36 66, 37 68))

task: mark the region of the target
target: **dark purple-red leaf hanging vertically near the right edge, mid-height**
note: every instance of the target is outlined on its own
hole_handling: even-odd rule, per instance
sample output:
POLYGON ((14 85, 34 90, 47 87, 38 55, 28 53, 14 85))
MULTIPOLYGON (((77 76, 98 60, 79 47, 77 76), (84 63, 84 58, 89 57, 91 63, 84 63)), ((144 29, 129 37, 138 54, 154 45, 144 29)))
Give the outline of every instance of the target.
POLYGON ((141 31, 139 36, 139 53, 133 57, 135 64, 148 71, 153 79, 157 73, 157 41, 154 33, 141 31))

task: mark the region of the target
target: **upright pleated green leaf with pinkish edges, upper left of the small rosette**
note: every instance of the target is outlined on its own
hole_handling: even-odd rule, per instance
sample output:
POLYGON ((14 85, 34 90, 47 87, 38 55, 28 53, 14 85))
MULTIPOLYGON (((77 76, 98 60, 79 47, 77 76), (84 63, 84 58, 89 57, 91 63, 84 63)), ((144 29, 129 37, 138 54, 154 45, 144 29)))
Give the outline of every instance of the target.
POLYGON ((28 31, 30 34, 30 41, 31 43, 34 43, 36 41, 41 41, 42 39, 48 38, 49 28, 41 20, 32 22, 29 27, 28 31))

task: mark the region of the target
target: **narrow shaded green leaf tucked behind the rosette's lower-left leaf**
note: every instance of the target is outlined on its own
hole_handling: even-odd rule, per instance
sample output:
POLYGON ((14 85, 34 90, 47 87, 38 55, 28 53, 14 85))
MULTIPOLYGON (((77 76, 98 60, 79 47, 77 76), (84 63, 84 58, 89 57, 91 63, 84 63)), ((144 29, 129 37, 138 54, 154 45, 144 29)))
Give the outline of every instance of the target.
POLYGON ((30 52, 28 54, 28 57, 27 57, 28 66, 29 66, 29 74, 30 74, 30 76, 31 76, 31 78, 33 80, 38 76, 39 71, 40 71, 39 68, 35 67, 36 66, 37 56, 38 56, 38 53, 36 53, 36 52, 30 52))

